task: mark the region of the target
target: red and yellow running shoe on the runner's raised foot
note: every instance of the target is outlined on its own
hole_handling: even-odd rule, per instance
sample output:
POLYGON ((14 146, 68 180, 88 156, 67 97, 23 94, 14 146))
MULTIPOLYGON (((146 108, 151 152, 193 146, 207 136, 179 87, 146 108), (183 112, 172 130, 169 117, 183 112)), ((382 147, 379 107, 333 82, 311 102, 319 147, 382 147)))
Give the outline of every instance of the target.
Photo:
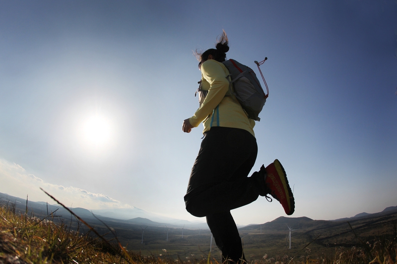
POLYGON ((287 215, 295 211, 295 201, 291 188, 289 187, 287 174, 278 159, 266 167, 266 192, 276 199, 287 215))

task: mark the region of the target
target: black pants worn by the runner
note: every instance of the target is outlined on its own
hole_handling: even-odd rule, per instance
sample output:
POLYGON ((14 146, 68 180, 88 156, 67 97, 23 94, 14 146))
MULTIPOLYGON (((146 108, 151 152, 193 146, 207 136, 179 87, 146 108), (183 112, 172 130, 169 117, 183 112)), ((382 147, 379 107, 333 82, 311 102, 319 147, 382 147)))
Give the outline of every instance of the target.
POLYGON ((186 210, 206 216, 222 258, 245 260, 241 238, 230 210, 258 199, 258 173, 248 177, 258 154, 257 141, 246 130, 212 127, 201 142, 192 168, 186 210))

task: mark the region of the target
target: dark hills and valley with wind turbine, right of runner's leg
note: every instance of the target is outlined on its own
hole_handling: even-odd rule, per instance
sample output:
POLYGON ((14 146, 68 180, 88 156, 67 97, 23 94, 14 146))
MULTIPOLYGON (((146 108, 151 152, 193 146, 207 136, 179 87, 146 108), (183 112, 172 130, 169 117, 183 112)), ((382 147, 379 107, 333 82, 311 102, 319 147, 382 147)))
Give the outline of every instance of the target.
POLYGON ((397 210, 382 211, 345 220, 313 220, 307 217, 279 217, 263 225, 240 229, 246 252, 258 255, 261 249, 276 255, 335 254, 339 248, 367 247, 380 238, 396 237, 397 210), (289 248, 289 229, 291 249, 289 248), (303 250, 305 247, 307 248, 303 250))

